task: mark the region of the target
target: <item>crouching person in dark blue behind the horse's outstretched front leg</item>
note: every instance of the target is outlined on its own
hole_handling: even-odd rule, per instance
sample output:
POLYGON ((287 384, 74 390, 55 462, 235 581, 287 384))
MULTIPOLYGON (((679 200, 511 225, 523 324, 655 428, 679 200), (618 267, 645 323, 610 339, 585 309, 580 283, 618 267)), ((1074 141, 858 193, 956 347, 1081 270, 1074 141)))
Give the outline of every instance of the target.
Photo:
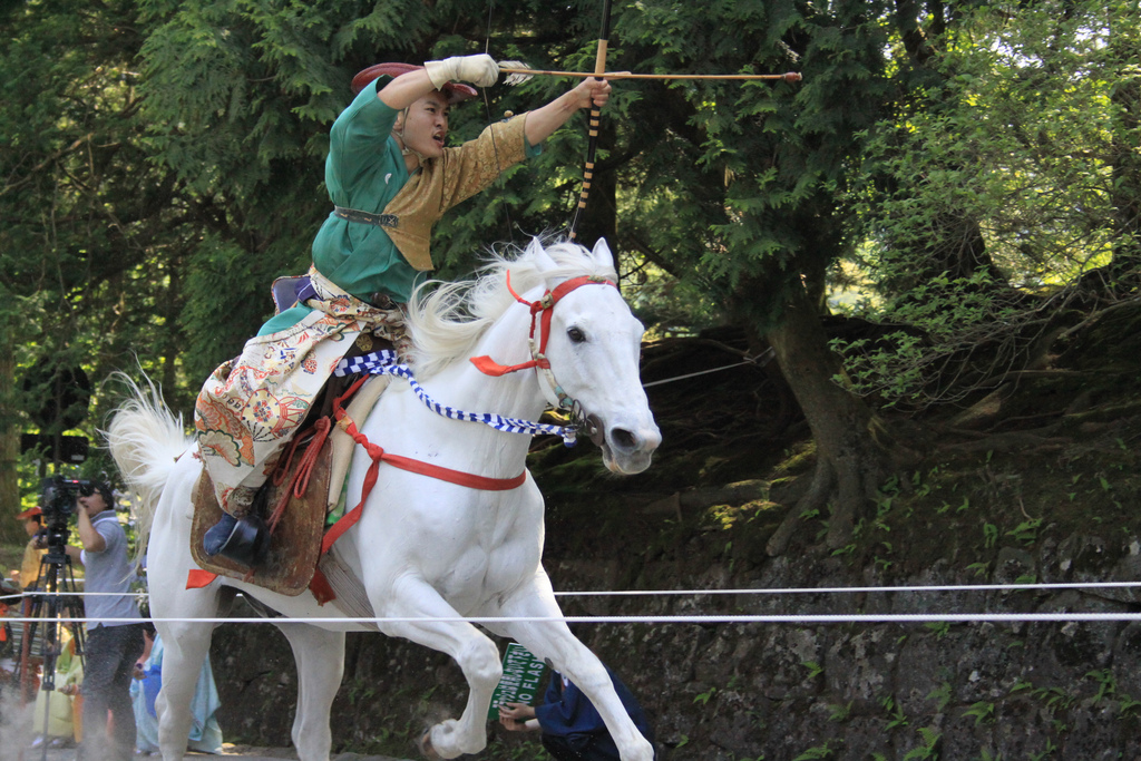
MULTIPOLYGON (((638 731, 653 745, 654 731, 646 713, 617 674, 605 664, 604 667, 638 731)), ((551 673, 542 705, 502 705, 500 723, 510 731, 542 731, 543 747, 557 761, 620 761, 618 748, 598 710, 574 682, 557 671, 551 673)))

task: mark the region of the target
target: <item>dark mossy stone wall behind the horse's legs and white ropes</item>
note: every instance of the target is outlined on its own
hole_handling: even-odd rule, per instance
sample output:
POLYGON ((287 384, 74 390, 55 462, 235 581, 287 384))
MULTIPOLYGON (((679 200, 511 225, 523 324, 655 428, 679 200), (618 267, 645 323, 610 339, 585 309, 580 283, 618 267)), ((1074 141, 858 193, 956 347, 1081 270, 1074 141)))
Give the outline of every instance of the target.
MULTIPOLYGON (((734 535, 741 536, 737 532, 734 535)), ((1108 535, 1108 532, 1107 532, 1108 535)), ((985 575, 933 558, 904 576, 804 551, 769 559, 755 543, 695 533, 655 552, 615 547, 549 557, 560 590, 804 589, 1134 581, 1141 543, 1070 536, 1001 548, 985 575), (618 560, 622 557, 624 560, 618 560)), ((1133 590, 564 598, 568 614, 931 614, 1138 612, 1133 590)), ((212 657, 227 739, 284 745, 296 673, 283 637, 221 626, 212 657)), ((577 633, 654 719, 659 759, 1138 759, 1141 623, 582 624, 577 633)), ((414 737, 463 705, 446 657, 381 635, 348 638, 338 750, 414 755, 414 737)), ((518 739, 489 724, 480 758, 518 739)), ((531 756, 526 756, 531 758, 531 756)))

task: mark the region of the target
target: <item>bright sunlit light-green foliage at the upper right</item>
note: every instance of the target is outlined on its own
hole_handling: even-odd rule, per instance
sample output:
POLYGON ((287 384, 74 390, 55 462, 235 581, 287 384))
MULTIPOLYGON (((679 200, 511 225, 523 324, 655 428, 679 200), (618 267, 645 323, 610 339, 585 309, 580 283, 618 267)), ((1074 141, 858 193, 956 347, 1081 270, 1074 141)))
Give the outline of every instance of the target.
POLYGON ((992 3, 931 42, 930 76, 865 133, 856 260, 877 298, 855 309, 900 327, 834 345, 852 390, 917 410, 993 388, 1068 293, 1027 292, 1047 297, 1135 248, 1119 211, 1136 194, 1117 189, 1141 138, 1122 114, 1130 8, 992 3))

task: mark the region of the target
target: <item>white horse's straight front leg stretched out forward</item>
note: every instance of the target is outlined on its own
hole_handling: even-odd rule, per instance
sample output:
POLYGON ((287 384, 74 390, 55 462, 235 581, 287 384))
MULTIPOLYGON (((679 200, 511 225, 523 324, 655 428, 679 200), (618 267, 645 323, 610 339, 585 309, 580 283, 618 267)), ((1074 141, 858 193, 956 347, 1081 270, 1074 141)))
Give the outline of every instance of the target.
MULTIPOLYGON (((534 580, 521 586, 501 606, 504 618, 561 618, 550 580, 540 569, 534 580)), ((563 622, 516 621, 488 625, 496 634, 509 637, 549 661, 590 698, 618 747, 622 761, 653 761, 654 746, 642 737, 614 690, 602 662, 578 641, 563 622)))

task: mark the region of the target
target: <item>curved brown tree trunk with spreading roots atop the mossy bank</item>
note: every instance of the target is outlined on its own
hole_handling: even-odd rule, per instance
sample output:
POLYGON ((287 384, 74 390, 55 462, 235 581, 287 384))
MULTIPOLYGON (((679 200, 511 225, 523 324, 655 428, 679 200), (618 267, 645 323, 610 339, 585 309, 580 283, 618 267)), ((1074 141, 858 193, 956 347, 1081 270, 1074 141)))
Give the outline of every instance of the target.
POLYGON ((837 357, 802 289, 792 289, 779 326, 766 335, 816 440, 816 472, 808 493, 790 510, 769 540, 769 554, 782 554, 802 517, 831 505, 827 545, 848 544, 858 517, 895 470, 895 444, 883 422, 858 397, 835 382, 837 357))

